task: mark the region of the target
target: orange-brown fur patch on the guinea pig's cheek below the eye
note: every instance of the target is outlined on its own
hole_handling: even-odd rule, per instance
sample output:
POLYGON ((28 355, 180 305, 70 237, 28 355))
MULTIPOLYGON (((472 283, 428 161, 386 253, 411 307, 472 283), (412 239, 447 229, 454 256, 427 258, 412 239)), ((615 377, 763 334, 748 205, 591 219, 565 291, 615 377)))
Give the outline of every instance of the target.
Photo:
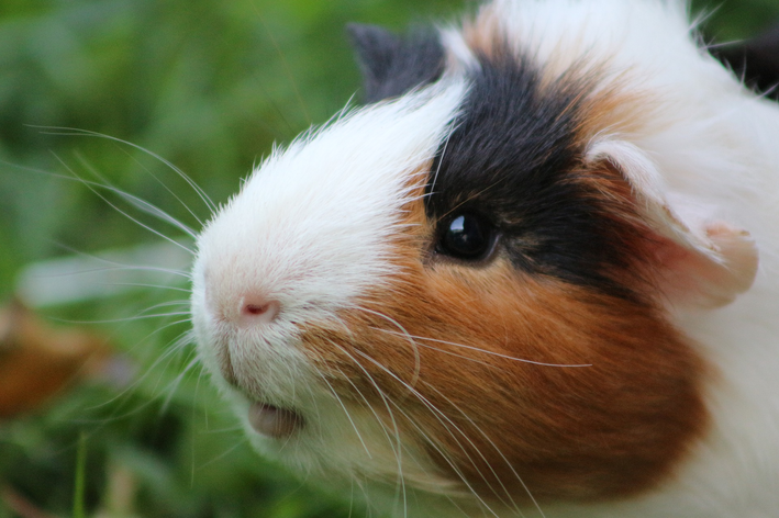
POLYGON ((704 367, 657 307, 504 257, 436 260, 422 201, 409 222, 392 290, 346 312, 348 329, 304 334, 345 401, 393 414, 482 498, 601 499, 672 473, 706 423, 704 367))

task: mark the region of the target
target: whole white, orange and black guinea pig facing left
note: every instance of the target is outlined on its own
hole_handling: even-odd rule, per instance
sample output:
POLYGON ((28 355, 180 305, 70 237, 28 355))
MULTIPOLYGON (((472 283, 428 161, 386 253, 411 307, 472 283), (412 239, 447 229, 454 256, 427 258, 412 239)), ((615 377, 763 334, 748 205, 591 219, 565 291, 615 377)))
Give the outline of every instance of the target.
POLYGON ((261 454, 398 517, 779 516, 779 109, 686 11, 350 27, 366 104, 197 241, 261 454))

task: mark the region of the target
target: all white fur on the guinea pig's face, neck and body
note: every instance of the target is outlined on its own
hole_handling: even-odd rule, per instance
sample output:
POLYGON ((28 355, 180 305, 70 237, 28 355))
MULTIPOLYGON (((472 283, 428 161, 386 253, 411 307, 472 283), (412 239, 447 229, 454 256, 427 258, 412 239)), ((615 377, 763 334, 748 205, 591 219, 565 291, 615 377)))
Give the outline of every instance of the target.
MULTIPOLYGON (((544 505, 544 515, 779 516, 779 109, 747 92, 695 46, 681 2, 497 0, 489 9, 493 12, 483 15, 496 16, 516 48, 538 63, 559 70, 585 57, 608 63, 613 75, 605 77, 624 74, 628 88, 650 93, 646 121, 630 134, 604 131, 592 143, 592 155, 606 153, 606 142, 637 150, 659 174, 654 181, 645 174, 647 194, 667 201, 693 227, 722 221, 747 229, 760 257, 754 286, 734 303, 675 313, 714 367, 706 386, 713 429, 678 476, 648 495, 544 505)), ((472 54, 455 31, 446 30, 443 41, 449 76, 472 66, 472 54)), ((349 420, 296 349, 293 322, 333 318, 391 273, 388 240, 409 196, 409 174, 421 171, 446 137, 464 90, 447 79, 359 110, 275 151, 198 241, 192 306, 207 365, 218 372, 215 348, 226 348, 253 397, 305 413, 312 430, 277 454, 303 473, 343 473, 344 484, 357 480, 357 493, 371 492, 369 478, 390 488, 401 476, 419 484, 427 478, 436 487, 435 475, 424 454, 396 444, 392 430, 377 425, 369 409, 352 408, 349 420), (280 318, 261 337, 230 320, 246 292, 281 303, 280 318)), ((246 423, 248 401, 224 391, 246 423)), ((248 425, 247 430, 258 448, 280 448, 248 425)), ((394 504, 387 503, 393 502, 390 489, 377 505, 398 516, 427 518, 491 513, 478 510, 476 500, 458 510, 446 498, 424 492, 412 498, 411 492, 398 485, 394 504)), ((536 508, 523 515, 492 511, 541 516, 536 508)))

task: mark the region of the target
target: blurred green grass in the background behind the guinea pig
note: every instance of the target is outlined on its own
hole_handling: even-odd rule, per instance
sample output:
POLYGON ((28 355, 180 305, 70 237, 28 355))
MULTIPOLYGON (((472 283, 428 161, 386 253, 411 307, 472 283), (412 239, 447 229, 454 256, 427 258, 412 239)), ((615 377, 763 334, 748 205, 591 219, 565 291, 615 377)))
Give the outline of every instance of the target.
MULTIPOLYGON (((197 193, 159 160, 114 140, 43 127, 98 132, 147 148, 224 202, 274 142, 325 122, 358 91, 347 22, 400 31, 455 20, 464 7, 474 3, 0 0, 0 302, 31 262, 160 240, 58 176, 97 174, 196 229, 197 218, 208 217, 197 193)), ((705 24, 708 41, 748 37, 779 20, 779 0, 693 8, 716 8, 705 24)), ((19 516, 5 489, 37 510, 71 514, 81 432, 88 516, 366 516, 249 451, 198 368, 181 375, 192 359, 191 347, 175 346, 188 328, 176 324, 181 316, 97 323, 182 299, 144 288, 42 311, 59 325, 93 322, 90 329, 133 359, 138 380, 124 388, 85 383, 0 423, 0 518, 19 516)))

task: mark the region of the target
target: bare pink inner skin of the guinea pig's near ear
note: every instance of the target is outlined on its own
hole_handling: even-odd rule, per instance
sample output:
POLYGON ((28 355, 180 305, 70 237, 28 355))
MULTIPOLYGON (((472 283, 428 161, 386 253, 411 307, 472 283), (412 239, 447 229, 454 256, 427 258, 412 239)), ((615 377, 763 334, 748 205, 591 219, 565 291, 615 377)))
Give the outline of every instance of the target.
POLYGON ((660 290, 675 306, 724 306, 755 280, 758 254, 748 232, 723 222, 708 224, 704 230, 710 251, 659 238, 660 290))

